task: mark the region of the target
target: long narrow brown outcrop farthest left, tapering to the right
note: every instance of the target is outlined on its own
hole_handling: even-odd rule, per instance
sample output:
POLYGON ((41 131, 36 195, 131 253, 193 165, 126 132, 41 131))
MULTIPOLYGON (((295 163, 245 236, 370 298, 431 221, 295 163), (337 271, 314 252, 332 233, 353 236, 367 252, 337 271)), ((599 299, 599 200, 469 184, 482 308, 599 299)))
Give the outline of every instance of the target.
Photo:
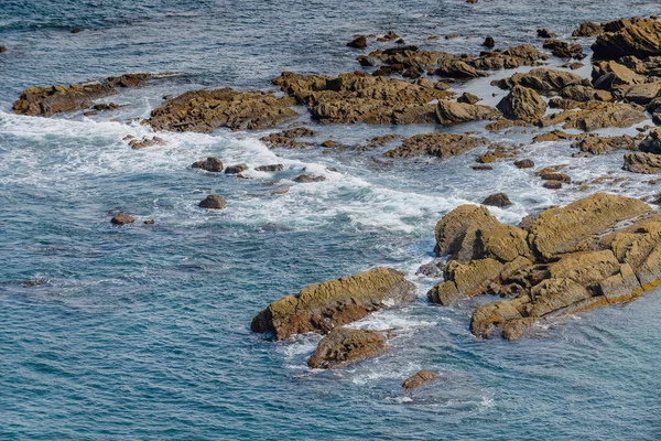
POLYGON ((154 74, 126 74, 71 86, 30 87, 13 104, 13 110, 20 115, 44 117, 80 110, 90 107, 95 99, 116 94, 119 88, 137 87, 158 77, 154 74))

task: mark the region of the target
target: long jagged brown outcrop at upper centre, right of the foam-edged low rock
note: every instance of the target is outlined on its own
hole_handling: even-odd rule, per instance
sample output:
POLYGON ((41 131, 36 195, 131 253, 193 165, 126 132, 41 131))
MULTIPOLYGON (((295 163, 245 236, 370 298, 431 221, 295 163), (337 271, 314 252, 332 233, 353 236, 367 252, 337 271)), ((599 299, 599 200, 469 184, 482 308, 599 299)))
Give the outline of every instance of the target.
POLYGON ((430 103, 454 95, 433 82, 414 84, 365 72, 337 77, 285 72, 273 83, 321 122, 435 123, 436 106, 430 103))

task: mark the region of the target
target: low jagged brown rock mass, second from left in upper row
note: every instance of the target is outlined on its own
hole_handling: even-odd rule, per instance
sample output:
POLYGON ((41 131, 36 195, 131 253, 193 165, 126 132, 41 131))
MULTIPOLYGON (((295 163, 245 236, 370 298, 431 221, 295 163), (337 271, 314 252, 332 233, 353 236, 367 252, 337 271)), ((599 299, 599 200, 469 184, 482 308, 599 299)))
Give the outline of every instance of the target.
POLYGON ((152 110, 148 122, 154 130, 169 131, 258 130, 296 118, 299 114, 290 108, 293 105, 291 97, 260 90, 191 90, 152 110))

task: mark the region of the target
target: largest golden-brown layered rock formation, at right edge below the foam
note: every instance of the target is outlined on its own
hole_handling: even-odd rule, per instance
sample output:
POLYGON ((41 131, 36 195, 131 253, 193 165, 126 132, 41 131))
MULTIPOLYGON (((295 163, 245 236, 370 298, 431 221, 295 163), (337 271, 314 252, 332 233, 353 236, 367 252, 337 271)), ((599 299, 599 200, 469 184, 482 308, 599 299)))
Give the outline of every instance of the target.
POLYGON ((480 337, 500 330, 518 338, 537 321, 631 301, 661 284, 661 215, 630 197, 597 193, 522 228, 478 228, 464 246, 472 260, 451 260, 427 297, 441 304, 486 292, 510 298, 475 310, 470 331, 480 337))

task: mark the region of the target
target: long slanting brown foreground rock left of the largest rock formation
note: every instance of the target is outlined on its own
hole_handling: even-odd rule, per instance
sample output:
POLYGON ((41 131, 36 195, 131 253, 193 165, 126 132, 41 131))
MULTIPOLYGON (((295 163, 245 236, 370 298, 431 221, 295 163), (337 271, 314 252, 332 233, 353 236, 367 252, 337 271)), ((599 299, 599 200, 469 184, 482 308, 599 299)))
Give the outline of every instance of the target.
POLYGON ((253 320, 251 330, 275 340, 316 332, 365 318, 386 303, 412 300, 415 286, 404 273, 379 267, 351 277, 312 284, 295 295, 274 301, 253 320))

